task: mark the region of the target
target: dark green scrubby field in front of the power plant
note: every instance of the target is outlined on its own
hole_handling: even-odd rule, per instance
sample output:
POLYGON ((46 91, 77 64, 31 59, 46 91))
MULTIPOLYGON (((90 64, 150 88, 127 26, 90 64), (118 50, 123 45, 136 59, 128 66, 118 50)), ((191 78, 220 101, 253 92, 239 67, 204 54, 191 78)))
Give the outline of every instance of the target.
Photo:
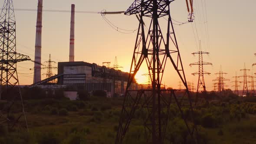
MULTIPOLYGON (((122 98, 41 99, 26 100, 24 104, 29 132, 18 128, 8 132, 1 125, 0 144, 113 144, 115 141, 122 98)), ((256 103, 215 101, 195 108, 195 113, 202 144, 255 144, 256 103)), ((185 130, 179 114, 173 115, 169 123, 173 125, 167 128, 167 137, 174 137, 174 142, 166 144, 183 144, 181 135, 185 130)), ((139 116, 134 118, 132 126, 124 144, 146 144, 139 116)))

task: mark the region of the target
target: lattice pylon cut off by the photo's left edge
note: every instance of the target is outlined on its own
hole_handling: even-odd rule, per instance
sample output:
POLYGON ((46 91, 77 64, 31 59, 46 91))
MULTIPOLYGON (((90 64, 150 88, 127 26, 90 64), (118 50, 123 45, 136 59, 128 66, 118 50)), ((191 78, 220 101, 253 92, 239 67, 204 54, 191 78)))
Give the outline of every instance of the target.
POLYGON ((16 126, 27 128, 16 63, 30 60, 30 57, 16 53, 16 21, 12 0, 4 0, 0 14, 0 52, 0 101, 3 100, 0 124, 7 124, 9 129, 16 126), (19 113, 16 113, 15 118, 10 118, 14 110, 13 105, 21 105, 21 108, 15 108, 19 113))

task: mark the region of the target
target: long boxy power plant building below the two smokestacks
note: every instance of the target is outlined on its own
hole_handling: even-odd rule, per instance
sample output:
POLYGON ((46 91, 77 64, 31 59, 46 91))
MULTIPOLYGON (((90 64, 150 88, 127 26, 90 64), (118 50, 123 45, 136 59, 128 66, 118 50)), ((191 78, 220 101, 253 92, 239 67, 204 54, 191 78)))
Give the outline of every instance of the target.
MULTIPOLYGON (((88 62, 58 62, 58 74, 52 78, 42 80, 33 85, 50 85, 49 81, 58 79, 55 84, 71 87, 73 90, 104 90, 107 95, 124 94, 129 77, 128 72, 99 66, 88 62)), ((131 89, 138 89, 136 81, 131 89)))

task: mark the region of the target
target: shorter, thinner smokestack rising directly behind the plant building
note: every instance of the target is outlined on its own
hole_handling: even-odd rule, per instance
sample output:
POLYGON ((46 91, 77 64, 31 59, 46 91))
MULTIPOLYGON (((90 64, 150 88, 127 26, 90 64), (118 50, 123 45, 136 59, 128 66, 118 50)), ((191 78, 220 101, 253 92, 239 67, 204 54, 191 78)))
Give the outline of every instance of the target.
POLYGON ((69 62, 75 61, 75 5, 71 5, 69 62))

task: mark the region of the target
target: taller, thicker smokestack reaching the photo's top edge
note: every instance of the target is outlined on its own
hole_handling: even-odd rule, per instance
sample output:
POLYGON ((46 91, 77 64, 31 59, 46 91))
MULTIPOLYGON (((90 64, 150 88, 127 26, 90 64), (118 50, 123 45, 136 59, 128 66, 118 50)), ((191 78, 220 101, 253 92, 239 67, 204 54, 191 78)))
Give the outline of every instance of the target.
MULTIPOLYGON (((38 0, 36 19, 35 61, 41 63, 43 0, 38 0)), ((41 81, 41 65, 34 65, 34 83, 41 81)))

